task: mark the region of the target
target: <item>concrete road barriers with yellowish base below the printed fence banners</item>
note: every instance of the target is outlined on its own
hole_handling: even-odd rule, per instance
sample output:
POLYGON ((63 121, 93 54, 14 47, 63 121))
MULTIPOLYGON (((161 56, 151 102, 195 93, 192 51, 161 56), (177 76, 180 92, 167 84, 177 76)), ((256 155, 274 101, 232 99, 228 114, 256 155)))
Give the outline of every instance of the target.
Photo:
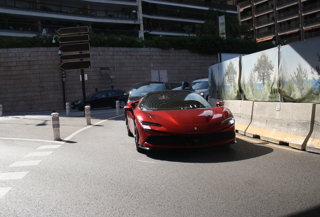
POLYGON ((238 133, 320 153, 320 104, 223 100, 238 133))

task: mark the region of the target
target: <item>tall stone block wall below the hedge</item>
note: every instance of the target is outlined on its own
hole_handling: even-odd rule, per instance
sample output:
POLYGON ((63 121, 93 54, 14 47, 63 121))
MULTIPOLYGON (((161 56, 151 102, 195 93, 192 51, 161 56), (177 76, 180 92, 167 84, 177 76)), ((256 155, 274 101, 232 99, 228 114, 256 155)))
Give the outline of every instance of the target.
MULTIPOLYGON (((151 70, 167 70, 168 81, 192 82, 208 76, 217 55, 188 50, 156 48, 91 48, 91 69, 86 93, 98 90, 130 90, 137 82, 150 81, 151 70), (115 78, 111 78, 113 75, 115 78)), ((58 48, 0 49, 0 104, 5 114, 52 112, 64 109, 58 48)), ((81 70, 66 71, 65 100, 82 98, 81 70)))

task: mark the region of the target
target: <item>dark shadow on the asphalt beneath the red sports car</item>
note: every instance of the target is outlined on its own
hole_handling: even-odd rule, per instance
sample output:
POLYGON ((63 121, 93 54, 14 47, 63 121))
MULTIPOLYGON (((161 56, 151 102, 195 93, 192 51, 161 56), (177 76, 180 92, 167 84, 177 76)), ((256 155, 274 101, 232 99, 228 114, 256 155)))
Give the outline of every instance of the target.
POLYGON ((237 141, 237 144, 205 148, 151 150, 147 152, 147 157, 185 163, 221 163, 256 158, 273 152, 270 147, 254 145, 239 139, 237 141))

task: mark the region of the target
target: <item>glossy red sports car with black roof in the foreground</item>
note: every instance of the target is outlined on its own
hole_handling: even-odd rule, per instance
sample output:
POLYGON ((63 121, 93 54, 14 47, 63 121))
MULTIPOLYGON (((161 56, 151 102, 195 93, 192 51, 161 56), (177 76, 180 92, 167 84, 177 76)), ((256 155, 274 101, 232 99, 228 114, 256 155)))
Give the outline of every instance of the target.
POLYGON ((223 102, 212 107, 191 90, 149 92, 124 110, 138 152, 235 143, 234 118, 223 102))

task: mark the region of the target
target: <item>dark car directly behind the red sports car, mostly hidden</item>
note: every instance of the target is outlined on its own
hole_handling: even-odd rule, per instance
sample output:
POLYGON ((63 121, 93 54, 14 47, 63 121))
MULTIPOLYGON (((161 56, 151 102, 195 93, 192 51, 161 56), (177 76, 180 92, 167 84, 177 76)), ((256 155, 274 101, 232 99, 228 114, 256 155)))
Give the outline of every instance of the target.
POLYGON ((168 87, 164 82, 158 82, 158 81, 148 81, 148 82, 140 82, 135 83, 130 91, 128 102, 129 101, 136 101, 144 94, 151 92, 151 91, 157 91, 157 90, 167 90, 168 87))

